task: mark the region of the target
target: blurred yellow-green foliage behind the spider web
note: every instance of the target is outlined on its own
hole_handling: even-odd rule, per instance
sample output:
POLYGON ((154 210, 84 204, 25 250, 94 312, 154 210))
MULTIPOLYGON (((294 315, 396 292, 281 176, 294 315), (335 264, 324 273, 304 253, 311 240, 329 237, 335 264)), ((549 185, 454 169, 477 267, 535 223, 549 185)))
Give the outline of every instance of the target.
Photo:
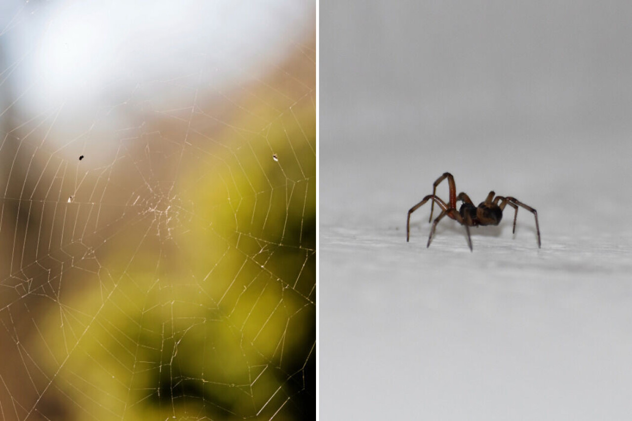
POLYGON ((189 139, 177 188, 34 339, 68 417, 313 417, 314 102, 240 118, 189 139))

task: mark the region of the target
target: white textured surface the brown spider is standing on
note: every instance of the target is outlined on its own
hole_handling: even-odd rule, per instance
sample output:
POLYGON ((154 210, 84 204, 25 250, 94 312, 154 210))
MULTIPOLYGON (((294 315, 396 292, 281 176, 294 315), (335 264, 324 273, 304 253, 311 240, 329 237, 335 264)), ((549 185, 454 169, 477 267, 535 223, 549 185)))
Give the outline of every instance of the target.
POLYGON ((405 231, 424 189, 399 181, 391 164, 372 186, 377 195, 353 194, 348 179, 321 179, 321 418, 632 414, 629 222, 603 219, 590 202, 566 219, 542 198, 554 185, 540 185, 544 193, 530 190, 528 203, 540 214, 542 249, 528 212, 519 212, 515 236, 507 214, 499 227, 472 229, 473 252, 453 221, 426 248, 429 206, 413 214, 410 243, 405 231), (380 189, 389 183, 392 197, 399 189, 420 195, 391 202, 380 189), (322 210, 332 203, 337 211, 322 210))

